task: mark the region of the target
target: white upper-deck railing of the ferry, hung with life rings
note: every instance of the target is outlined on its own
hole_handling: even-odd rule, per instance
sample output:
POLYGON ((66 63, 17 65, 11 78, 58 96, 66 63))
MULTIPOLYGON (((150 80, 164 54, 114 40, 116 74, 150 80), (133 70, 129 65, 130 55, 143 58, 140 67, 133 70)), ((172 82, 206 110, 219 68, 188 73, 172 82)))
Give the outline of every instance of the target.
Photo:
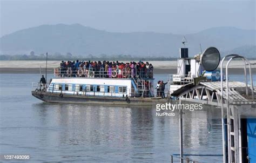
POLYGON ((55 77, 84 77, 84 78, 131 78, 139 76, 140 78, 153 78, 153 69, 136 70, 136 69, 71 69, 68 68, 55 68, 55 77))

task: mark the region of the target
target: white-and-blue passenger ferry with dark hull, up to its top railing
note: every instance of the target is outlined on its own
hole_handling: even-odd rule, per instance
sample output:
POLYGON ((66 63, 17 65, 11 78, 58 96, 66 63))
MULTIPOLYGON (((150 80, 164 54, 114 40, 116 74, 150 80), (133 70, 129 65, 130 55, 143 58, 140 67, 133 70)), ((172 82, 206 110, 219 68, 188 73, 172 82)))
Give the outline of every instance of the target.
POLYGON ((153 70, 133 74, 127 69, 106 72, 79 68, 73 72, 58 67, 54 76, 46 90, 36 83, 32 95, 50 103, 152 105, 152 101, 166 101, 154 95, 153 70))

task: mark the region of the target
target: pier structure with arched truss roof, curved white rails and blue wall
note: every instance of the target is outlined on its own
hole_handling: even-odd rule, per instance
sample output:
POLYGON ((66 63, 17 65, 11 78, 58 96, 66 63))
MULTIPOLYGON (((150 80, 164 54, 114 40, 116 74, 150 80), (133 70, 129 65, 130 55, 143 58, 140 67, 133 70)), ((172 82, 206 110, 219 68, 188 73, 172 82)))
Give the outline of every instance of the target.
MULTIPOLYGON (((239 55, 228 55, 221 60, 220 81, 201 78, 179 85, 171 96, 182 102, 201 103, 221 108, 223 128, 223 162, 256 162, 256 93, 250 62, 239 55), (223 73, 223 62, 226 74, 223 73), (228 65, 233 59, 244 60, 245 83, 228 79, 228 65), (247 79, 248 65, 250 85, 247 79), (226 77, 226 80, 225 80, 226 77)), ((183 158, 182 112, 180 113, 180 157, 183 158)), ((183 162, 183 159, 180 159, 183 162)))

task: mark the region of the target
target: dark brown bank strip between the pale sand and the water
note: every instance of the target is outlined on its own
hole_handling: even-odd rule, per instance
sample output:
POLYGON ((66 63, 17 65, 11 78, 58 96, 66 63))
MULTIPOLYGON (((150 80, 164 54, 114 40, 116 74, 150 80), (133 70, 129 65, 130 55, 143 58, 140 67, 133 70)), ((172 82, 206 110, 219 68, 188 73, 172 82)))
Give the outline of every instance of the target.
MULTIPOLYGON (((225 71, 225 69, 223 69, 225 71)), ((244 74, 244 69, 242 68, 230 68, 228 69, 230 74, 244 74)), ((176 74, 177 69, 154 69, 154 74, 176 74)), ((31 73, 31 74, 39 74, 39 68, 5 68, 0 67, 0 74, 6 73, 31 73)), ((41 73, 45 73, 45 69, 41 69, 41 73)), ((47 73, 52 74, 53 68, 48 68, 47 73)), ((256 68, 252 68, 252 74, 256 74, 256 68)))

